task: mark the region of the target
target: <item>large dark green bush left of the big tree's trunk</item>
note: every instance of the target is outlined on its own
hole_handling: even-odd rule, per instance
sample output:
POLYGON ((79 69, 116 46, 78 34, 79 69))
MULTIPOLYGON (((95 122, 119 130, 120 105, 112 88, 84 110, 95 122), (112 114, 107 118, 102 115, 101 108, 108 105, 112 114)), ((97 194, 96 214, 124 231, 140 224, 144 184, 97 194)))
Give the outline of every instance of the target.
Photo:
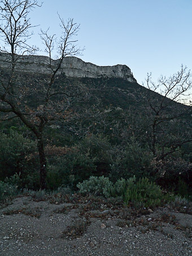
POLYGON ((11 130, 10 134, 1 132, 0 155, 0 180, 4 181, 6 177, 10 178, 15 173, 20 173, 19 186, 28 187, 28 175, 33 176, 38 169, 36 143, 16 131, 11 130))

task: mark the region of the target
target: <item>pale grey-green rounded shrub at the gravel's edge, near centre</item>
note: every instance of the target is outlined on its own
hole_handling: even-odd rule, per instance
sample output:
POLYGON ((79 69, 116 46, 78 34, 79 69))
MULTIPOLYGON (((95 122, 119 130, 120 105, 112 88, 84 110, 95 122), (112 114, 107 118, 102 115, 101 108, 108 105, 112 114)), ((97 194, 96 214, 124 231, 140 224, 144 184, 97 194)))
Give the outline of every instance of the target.
POLYGON ((110 190, 113 184, 108 177, 91 176, 89 180, 84 180, 82 183, 77 184, 79 192, 82 194, 89 194, 94 196, 110 197, 110 190))

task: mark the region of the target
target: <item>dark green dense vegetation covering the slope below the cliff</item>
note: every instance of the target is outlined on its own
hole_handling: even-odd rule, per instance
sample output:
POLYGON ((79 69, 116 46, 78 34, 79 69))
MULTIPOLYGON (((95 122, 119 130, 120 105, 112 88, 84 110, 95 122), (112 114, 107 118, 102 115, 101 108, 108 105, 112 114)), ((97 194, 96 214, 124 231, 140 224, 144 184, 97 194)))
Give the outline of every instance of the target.
MULTIPOLYGON (((60 81, 56 83, 63 83, 60 81)), ((74 191, 78 186, 80 192, 85 192, 80 184, 94 176, 107 179, 107 188, 103 185, 106 190, 101 194, 123 196, 125 201, 134 194, 140 202, 150 194, 150 190, 143 195, 142 189, 136 192, 137 186, 143 183, 147 184, 146 188, 151 186, 154 193, 154 198, 150 195, 150 201, 147 200, 149 205, 151 202, 158 205, 162 192, 156 185, 191 197, 190 107, 174 103, 164 109, 165 122, 155 131, 154 153, 154 114, 147 97, 152 96, 158 102, 159 94, 123 79, 71 79, 71 83, 84 84, 89 88, 90 97, 71 105, 73 115, 49 125, 43 134, 48 190, 66 186, 74 191), (184 114, 170 118, 175 112, 184 114), (133 177, 134 183, 127 186, 125 181, 133 177)), ((30 102, 35 108, 33 94, 30 102)), ((11 184, 19 189, 40 189, 36 138, 17 119, 1 122, 0 128, 0 187, 11 184)), ((89 193, 89 189, 86 192, 89 193)), ((97 194, 97 189, 94 193, 97 194)))

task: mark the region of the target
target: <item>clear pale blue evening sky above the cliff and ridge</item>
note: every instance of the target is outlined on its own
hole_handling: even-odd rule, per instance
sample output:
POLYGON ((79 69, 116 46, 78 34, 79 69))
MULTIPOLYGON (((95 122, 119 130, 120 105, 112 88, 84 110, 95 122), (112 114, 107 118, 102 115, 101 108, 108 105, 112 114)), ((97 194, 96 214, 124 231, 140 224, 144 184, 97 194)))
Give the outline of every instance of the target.
POLYGON ((85 62, 125 64, 139 84, 147 73, 155 81, 181 64, 192 70, 192 0, 44 0, 30 14, 40 25, 32 40, 42 49, 40 28, 60 36, 57 12, 80 24, 78 46, 85 50, 78 58, 85 62))

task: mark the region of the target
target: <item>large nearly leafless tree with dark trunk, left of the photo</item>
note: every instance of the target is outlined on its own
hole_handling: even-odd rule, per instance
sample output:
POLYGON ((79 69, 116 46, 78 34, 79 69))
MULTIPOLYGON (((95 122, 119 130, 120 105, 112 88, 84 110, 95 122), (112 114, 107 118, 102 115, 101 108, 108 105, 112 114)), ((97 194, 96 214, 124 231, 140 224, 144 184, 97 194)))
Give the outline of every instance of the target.
MULTIPOLYGON (((33 54, 37 47, 30 46, 28 40, 33 28, 28 18, 30 11, 40 7, 35 0, 2 0, 0 1, 2 39, 1 54, 5 62, 0 74, 0 111, 1 120, 19 118, 34 134, 37 140, 40 159, 41 189, 46 188, 46 156, 43 131, 47 124, 56 118, 67 119, 72 115, 70 106, 74 98, 82 98, 82 86, 71 86, 66 76, 59 74, 63 59, 80 53, 76 47, 79 25, 73 19, 65 22, 59 16, 62 35, 50 35, 49 30, 41 31, 41 39, 49 54, 49 75, 37 75, 18 71, 19 63, 25 55, 33 54), (52 55, 57 50, 56 64, 52 55), (59 78, 59 79, 58 79, 59 78), (60 80, 60 83, 58 80, 60 80), (76 96, 76 97, 75 97, 76 96), (36 104, 32 102, 35 99, 36 104)), ((84 90, 85 91, 85 90, 84 90)))

